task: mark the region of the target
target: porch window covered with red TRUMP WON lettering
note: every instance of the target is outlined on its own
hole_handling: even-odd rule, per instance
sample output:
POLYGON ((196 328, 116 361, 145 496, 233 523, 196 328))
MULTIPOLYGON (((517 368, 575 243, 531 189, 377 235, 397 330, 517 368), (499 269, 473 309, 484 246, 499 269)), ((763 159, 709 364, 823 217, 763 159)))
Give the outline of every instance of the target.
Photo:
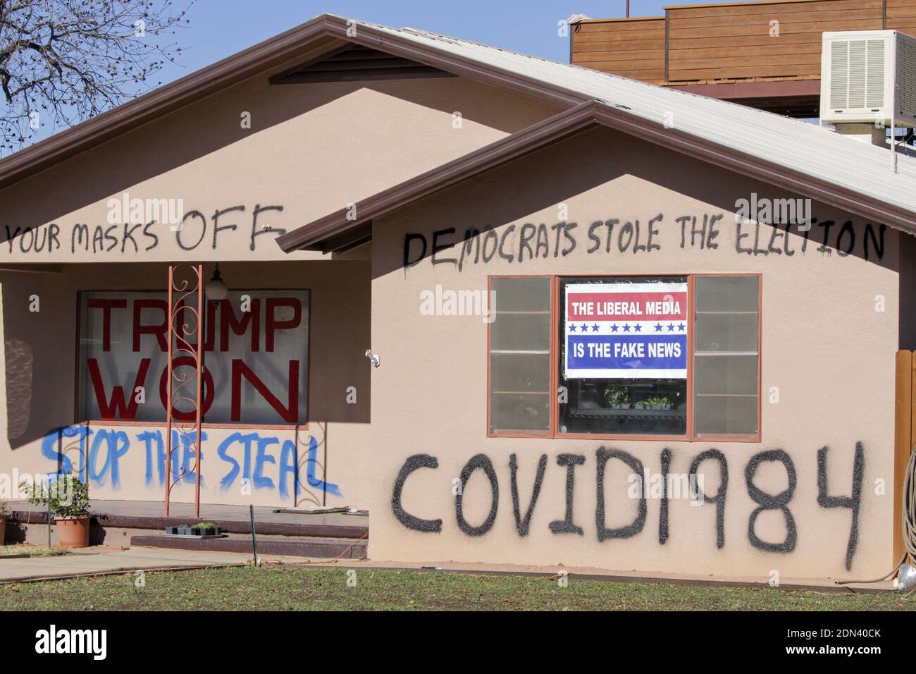
MULTIPOLYGON (((80 293, 80 421, 160 423, 168 400, 166 293, 80 293)), ((196 350, 195 319, 179 311, 176 346, 196 350), (189 326, 189 335, 181 326, 189 326)), ((218 425, 300 425, 308 392, 309 291, 231 291, 203 320, 202 420, 218 425)), ((181 351, 175 372, 196 368, 181 351)), ((194 397, 191 384, 181 397, 194 397)), ((196 401, 173 416, 193 418, 196 401)))

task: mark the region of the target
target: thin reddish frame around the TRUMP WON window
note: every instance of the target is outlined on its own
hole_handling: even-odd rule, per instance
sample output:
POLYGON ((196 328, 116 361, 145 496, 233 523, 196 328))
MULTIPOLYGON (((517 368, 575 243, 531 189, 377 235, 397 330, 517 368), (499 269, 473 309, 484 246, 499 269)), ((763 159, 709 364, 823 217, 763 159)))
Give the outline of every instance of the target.
MULTIPOLYGON (((265 429, 265 430, 309 430, 309 416, 311 416, 311 311, 313 307, 314 293, 311 288, 247 288, 245 291, 305 291, 309 294, 309 311, 306 317, 306 330, 308 337, 305 342, 305 421, 300 419, 298 424, 233 424, 230 422, 201 422, 201 428, 240 428, 240 429, 265 429)), ((80 336, 82 334, 82 294, 83 293, 163 293, 161 288, 83 288, 76 292, 76 331, 74 338, 73 354, 73 424, 87 426, 105 426, 105 427, 131 427, 131 426, 148 426, 152 428, 165 428, 169 425, 166 421, 133 421, 127 419, 84 419, 80 414, 80 336)), ((204 301, 207 302, 206 293, 204 301)), ((206 367, 206 353, 204 352, 203 367, 206 367)), ((173 424, 174 425, 174 424, 173 424)))

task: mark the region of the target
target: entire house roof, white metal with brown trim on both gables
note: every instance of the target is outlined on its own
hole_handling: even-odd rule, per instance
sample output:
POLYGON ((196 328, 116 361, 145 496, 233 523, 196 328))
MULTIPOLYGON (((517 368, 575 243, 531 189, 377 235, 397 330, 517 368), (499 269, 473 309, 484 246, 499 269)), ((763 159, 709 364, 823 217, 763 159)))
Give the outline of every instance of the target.
MULTIPOLYGON (((582 111, 590 111, 587 116, 591 116, 594 123, 626 130, 916 233, 916 193, 912 189, 916 184, 916 158, 898 153, 898 171, 895 172, 891 169, 888 149, 843 138, 800 120, 468 40, 414 28, 388 28, 328 14, 0 160, 0 187, 258 72, 299 56, 307 60, 319 58, 322 51, 333 50, 345 42, 385 51, 554 104, 566 107, 587 104, 582 111)), ((582 111, 577 114, 586 114, 582 111)), ((572 123, 572 118, 563 113, 541 124, 552 132, 559 132, 563 125, 572 123)), ((498 162, 495 158, 501 152, 510 156, 522 151, 519 149, 524 148, 522 141, 536 138, 536 127, 540 125, 518 131, 455 161, 473 173, 474 167, 481 165, 475 163, 482 157, 478 153, 486 150, 485 154, 498 162)), ((540 132, 550 134, 544 127, 540 127, 540 132)), ((537 147, 537 143, 532 147, 537 147)), ((443 186, 460 173, 454 164, 450 162, 434 170, 446 176, 443 186), (451 171, 456 172, 453 175, 451 171)), ((430 173, 414 181, 424 178, 427 185, 424 189, 429 189, 435 182, 430 173)), ((405 188, 405 183, 398 187, 405 188)), ((405 189, 404 192, 409 191, 405 189)), ((376 195, 364 204, 373 200, 381 203, 380 196, 376 195)), ((331 220, 322 218, 293 230, 278 238, 278 242, 284 249, 316 245, 317 240, 311 241, 308 232, 320 225, 327 226, 334 215, 327 216, 331 220)), ((358 222, 365 224, 362 214, 358 222)), ((347 221, 347 224, 353 226, 354 221, 347 221)), ((322 231, 327 234, 329 230, 322 228, 322 231)))

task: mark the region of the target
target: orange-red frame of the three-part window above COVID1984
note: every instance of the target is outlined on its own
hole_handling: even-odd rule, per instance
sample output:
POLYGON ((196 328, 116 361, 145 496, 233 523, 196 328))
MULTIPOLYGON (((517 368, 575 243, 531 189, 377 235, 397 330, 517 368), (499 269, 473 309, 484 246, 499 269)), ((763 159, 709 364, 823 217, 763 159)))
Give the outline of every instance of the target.
MULTIPOLYGON (((493 323, 486 324, 486 436, 487 437, 529 437, 529 438, 550 438, 550 439, 571 439, 571 440, 636 440, 645 442, 749 442, 759 443, 763 435, 763 406, 762 395, 763 382, 763 274, 758 271, 716 271, 710 273, 652 273, 654 277, 681 277, 687 279, 687 304, 689 307, 689 325, 690 331, 687 333, 687 430, 682 436, 667 434, 611 434, 611 433, 561 433, 560 428, 560 405, 558 403, 559 384, 560 384, 560 279, 570 278, 639 278, 646 276, 646 273, 628 273, 628 274, 608 274, 606 271, 596 271, 589 273, 569 273, 569 274, 488 274, 486 277, 486 296, 493 297, 494 279, 549 279, 551 283, 551 372, 550 372, 550 424, 546 433, 532 433, 530 431, 493 431, 490 427, 490 413, 492 411, 492 390, 491 390, 491 328, 493 323), (738 277, 754 276, 758 283, 758 317, 757 317, 757 433, 754 435, 729 435, 716 434, 697 436, 695 430, 695 391, 694 391, 694 343, 693 336, 696 331, 696 309, 694 302, 695 279, 700 277, 738 277)), ((488 307, 490 311, 493 307, 488 307)))

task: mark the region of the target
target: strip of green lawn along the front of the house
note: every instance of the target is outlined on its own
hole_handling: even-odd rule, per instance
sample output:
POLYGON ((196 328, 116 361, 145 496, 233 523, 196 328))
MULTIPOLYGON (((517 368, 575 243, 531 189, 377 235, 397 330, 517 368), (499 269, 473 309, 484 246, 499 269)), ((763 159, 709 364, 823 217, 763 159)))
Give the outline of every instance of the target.
POLYGON ((612 583, 347 569, 198 569, 0 585, 0 608, 22 610, 839 610, 908 611, 882 594, 612 583), (352 579, 353 576, 351 575, 352 579))

